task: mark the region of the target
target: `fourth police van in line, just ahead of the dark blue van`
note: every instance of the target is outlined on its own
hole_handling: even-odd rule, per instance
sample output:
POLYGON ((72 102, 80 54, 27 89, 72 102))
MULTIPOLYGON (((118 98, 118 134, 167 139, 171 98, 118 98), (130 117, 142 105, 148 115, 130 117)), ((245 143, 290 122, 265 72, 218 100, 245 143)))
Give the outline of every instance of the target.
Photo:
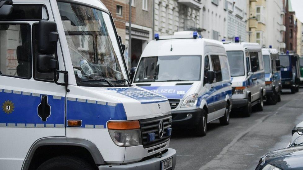
POLYGON ((269 46, 269 48, 262 48, 262 55, 265 70, 266 102, 276 104, 281 102, 282 93, 279 52, 269 46))

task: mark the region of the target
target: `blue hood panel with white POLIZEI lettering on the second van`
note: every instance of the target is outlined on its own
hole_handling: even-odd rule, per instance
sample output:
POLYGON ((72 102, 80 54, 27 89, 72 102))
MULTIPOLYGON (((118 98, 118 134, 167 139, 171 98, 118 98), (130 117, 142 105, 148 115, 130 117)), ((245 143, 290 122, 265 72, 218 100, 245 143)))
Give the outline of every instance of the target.
POLYGON ((167 98, 182 99, 192 85, 142 86, 142 88, 161 94, 167 98))

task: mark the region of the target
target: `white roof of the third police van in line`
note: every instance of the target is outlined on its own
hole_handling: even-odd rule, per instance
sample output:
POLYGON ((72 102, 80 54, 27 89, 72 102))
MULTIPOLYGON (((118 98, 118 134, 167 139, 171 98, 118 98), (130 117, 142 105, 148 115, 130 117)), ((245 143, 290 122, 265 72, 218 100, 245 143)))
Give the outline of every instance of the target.
POLYGON ((224 47, 226 51, 261 50, 258 43, 252 42, 225 42, 224 47))

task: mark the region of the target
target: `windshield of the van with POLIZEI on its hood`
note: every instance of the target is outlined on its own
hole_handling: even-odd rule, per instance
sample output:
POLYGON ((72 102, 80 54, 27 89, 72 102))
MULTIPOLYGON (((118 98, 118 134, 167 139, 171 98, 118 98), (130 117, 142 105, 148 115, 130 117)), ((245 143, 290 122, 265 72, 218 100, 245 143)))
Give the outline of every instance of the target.
POLYGON ((141 59, 134 82, 200 81, 201 56, 159 56, 141 59))

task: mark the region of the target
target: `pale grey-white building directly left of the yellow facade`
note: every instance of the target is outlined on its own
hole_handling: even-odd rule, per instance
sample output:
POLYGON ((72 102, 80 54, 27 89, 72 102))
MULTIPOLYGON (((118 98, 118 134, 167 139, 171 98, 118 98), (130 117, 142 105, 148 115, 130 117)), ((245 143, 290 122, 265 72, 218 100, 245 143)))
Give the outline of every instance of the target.
POLYGON ((224 10, 227 11, 227 40, 232 41, 233 37, 241 37, 247 42, 247 1, 245 0, 224 0, 224 10))

